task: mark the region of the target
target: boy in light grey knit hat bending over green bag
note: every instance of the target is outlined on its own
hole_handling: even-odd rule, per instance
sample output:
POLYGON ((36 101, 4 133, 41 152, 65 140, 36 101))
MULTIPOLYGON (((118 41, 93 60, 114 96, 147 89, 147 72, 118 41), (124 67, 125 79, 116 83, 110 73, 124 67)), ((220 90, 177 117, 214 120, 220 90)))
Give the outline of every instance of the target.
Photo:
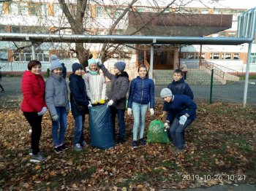
POLYGON ((187 95, 173 95, 169 88, 162 89, 160 95, 165 101, 163 110, 167 112, 165 129, 170 128, 175 152, 184 152, 183 132, 197 117, 197 105, 187 95))

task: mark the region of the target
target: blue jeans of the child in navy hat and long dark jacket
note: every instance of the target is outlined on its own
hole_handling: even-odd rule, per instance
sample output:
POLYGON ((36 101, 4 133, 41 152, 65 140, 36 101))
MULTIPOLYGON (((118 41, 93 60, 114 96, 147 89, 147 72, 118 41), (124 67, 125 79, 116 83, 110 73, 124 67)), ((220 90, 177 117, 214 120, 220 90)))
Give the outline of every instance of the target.
POLYGON ((84 129, 84 122, 86 119, 86 115, 78 115, 74 116, 75 118, 75 138, 74 138, 74 144, 82 144, 83 139, 83 129, 84 129))

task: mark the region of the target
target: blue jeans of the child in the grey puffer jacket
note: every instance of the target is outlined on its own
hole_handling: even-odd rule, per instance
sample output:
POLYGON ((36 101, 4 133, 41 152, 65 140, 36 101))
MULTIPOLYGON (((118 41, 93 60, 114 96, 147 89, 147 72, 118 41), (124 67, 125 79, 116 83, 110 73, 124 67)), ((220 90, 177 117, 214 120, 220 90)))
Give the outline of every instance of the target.
POLYGON ((64 144, 67 129, 67 113, 65 106, 56 106, 56 111, 59 118, 57 121, 52 121, 52 136, 54 146, 58 147, 64 144))

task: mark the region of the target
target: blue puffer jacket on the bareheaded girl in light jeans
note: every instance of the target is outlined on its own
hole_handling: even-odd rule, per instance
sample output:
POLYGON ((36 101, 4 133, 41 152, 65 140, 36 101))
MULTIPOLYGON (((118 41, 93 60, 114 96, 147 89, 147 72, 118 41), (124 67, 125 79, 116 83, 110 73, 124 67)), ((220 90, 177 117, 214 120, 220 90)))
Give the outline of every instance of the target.
POLYGON ((145 77, 142 79, 140 76, 132 79, 129 88, 128 108, 132 108, 132 102, 138 104, 148 104, 150 108, 154 108, 154 81, 145 77))

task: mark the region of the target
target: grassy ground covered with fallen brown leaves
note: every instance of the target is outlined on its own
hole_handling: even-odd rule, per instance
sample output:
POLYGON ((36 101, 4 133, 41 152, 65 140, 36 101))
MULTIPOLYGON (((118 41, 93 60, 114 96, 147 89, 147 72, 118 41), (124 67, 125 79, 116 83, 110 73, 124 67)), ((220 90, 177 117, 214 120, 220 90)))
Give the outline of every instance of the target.
MULTIPOLYGON (((173 144, 132 149, 132 117, 126 142, 113 149, 72 149, 74 120, 68 116, 66 144, 53 152, 51 122, 43 117, 41 151, 47 163, 29 163, 29 124, 19 109, 0 109, 0 190, 158 190, 214 184, 255 183, 256 108, 237 104, 197 104, 197 120, 187 129, 184 154, 173 144)), ((155 117, 161 114, 157 105, 155 117)), ((86 117, 86 141, 89 142, 86 117)), ((147 132, 147 128, 146 128, 147 132)))

